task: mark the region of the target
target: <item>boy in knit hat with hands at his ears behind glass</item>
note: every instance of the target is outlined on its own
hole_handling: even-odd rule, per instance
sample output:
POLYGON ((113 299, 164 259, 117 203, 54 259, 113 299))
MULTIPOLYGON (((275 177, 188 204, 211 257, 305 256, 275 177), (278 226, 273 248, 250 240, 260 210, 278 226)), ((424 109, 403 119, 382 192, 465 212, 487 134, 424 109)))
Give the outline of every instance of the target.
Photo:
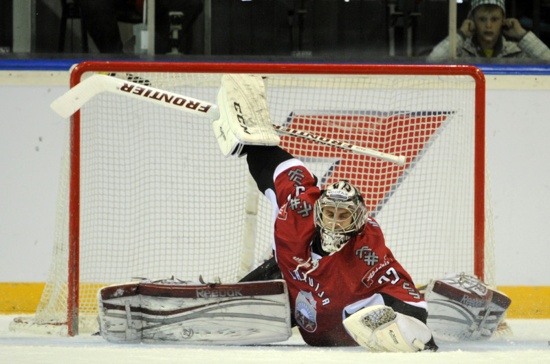
MULTIPOLYGON (((456 36, 457 57, 535 58, 550 60, 550 50, 517 19, 506 19, 505 0, 472 0, 472 8, 456 36)), ((437 44, 428 61, 449 56, 450 39, 437 44)))

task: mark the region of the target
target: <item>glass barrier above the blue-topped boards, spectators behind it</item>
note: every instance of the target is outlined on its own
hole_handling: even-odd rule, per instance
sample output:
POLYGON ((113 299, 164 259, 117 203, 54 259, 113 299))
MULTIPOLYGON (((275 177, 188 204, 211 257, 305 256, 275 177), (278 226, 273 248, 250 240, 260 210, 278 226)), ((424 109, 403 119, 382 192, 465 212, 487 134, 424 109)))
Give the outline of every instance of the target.
POLYGON ((468 16, 483 2, 0 1, 0 58, 550 63, 550 0, 502 0, 503 30, 481 19, 478 36, 468 16))

